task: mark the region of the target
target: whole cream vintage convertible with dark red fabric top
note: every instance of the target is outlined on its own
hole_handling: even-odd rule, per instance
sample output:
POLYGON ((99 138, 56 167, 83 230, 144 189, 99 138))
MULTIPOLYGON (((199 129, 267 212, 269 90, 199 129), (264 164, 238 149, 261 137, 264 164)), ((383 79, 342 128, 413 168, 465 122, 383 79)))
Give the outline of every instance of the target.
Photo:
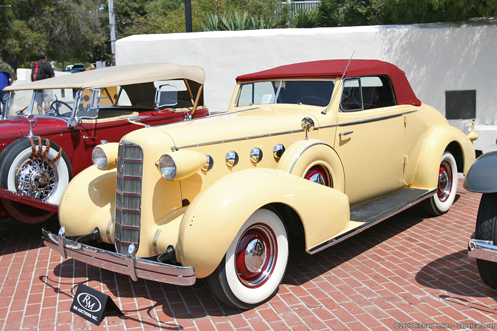
POLYGON ((130 132, 92 159, 46 245, 134 280, 205 277, 248 309, 278 290, 290 245, 314 254, 416 202, 446 212, 475 150, 397 66, 326 60, 239 76, 229 113, 130 132))

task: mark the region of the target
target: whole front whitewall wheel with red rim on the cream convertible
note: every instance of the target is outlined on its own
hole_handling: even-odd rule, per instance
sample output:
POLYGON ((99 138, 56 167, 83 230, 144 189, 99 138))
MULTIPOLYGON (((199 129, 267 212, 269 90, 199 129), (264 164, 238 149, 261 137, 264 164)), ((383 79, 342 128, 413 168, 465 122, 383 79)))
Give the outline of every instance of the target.
POLYGON ((251 309, 276 294, 288 262, 288 235, 280 217, 256 210, 242 226, 223 260, 207 277, 225 304, 251 309))

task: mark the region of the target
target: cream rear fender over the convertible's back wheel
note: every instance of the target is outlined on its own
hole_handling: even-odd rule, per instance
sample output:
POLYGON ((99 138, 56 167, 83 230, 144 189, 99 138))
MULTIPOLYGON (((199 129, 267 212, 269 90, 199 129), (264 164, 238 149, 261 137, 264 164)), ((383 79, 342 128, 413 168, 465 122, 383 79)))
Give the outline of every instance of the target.
POLYGON ((437 187, 440 160, 445 149, 452 142, 456 142, 462 150, 463 169, 458 169, 458 171, 463 174, 468 173, 469 168, 475 162, 475 148, 473 144, 458 129, 449 125, 438 125, 424 139, 412 187, 423 189, 437 187))

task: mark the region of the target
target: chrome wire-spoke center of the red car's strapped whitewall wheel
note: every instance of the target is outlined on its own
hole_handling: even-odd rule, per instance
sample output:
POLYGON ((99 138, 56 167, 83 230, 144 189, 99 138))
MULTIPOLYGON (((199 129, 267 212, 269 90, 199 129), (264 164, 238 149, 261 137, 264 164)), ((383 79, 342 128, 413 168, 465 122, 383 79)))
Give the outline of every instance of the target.
POLYGON ((58 174, 53 164, 28 159, 21 163, 15 174, 17 192, 31 198, 47 200, 57 189, 58 174))

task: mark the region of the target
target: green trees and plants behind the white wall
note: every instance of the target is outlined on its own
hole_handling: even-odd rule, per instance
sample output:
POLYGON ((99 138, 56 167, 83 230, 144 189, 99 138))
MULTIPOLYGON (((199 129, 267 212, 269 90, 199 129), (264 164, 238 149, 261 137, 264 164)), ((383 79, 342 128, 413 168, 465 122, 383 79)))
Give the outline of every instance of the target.
MULTIPOLYGON (((44 50, 59 67, 109 60, 106 0, 0 0, 0 51, 30 67, 44 50)), ((466 21, 497 16, 496 0, 322 0, 292 12, 281 0, 191 0, 193 31, 466 21), (313 22, 316 22, 313 24, 313 22)), ((185 31, 184 0, 115 0, 116 34, 185 31)))

